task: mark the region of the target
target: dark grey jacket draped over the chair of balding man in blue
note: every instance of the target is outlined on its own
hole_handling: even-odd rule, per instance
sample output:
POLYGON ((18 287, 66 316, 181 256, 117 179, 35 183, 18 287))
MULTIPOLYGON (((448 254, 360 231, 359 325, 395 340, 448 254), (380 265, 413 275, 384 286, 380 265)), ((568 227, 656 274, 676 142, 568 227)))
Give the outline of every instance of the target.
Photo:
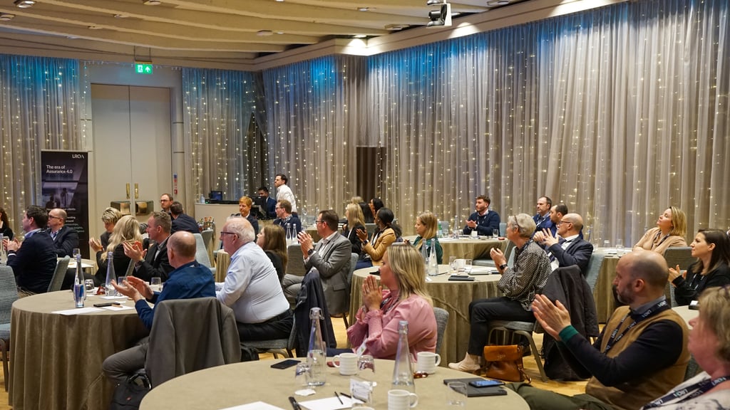
POLYGON ((183 374, 237 363, 241 347, 233 310, 216 298, 155 305, 145 369, 153 386, 183 374))

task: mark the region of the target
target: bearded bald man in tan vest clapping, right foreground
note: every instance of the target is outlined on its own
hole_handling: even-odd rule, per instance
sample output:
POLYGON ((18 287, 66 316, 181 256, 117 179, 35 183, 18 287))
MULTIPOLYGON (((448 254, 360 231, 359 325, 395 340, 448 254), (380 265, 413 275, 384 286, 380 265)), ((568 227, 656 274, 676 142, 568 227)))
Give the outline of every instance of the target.
POLYGON ((596 343, 573 328, 570 314, 537 295, 532 310, 573 370, 591 377, 584 395, 566 396, 515 384, 531 409, 639 409, 682 382, 689 352, 687 325, 664 298, 666 261, 656 252, 621 257, 613 286, 621 306, 613 312, 596 343))

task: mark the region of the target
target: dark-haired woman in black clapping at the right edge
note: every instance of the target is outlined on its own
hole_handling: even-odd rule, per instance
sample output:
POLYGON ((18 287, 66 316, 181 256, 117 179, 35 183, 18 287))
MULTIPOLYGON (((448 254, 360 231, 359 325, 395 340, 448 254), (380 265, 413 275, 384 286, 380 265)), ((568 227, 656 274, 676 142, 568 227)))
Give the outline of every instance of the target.
POLYGON ((675 301, 686 306, 708 287, 730 284, 730 239, 719 229, 702 229, 689 246, 697 261, 680 274, 680 266, 669 268, 669 282, 675 286, 675 301))

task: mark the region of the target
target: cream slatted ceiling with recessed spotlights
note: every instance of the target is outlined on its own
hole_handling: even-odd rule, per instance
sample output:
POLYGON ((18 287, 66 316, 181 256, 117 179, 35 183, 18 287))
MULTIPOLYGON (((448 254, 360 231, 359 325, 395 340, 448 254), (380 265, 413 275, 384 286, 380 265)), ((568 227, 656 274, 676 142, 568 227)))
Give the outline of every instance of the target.
MULTIPOLYGON (((509 0, 459 0, 452 15, 488 12, 509 0), (498 4, 499 3, 499 4, 498 4), (493 4, 490 6, 488 4, 493 4)), ((511 0, 518 3, 521 0, 511 0)), ((0 0, 4 47, 139 61, 245 62, 330 39, 372 39, 426 26, 426 0, 0 0), (17 2, 17 1, 16 1, 17 2)), ((454 16, 458 22, 458 15, 454 16)), ((38 54, 38 53, 36 53, 38 54)))

